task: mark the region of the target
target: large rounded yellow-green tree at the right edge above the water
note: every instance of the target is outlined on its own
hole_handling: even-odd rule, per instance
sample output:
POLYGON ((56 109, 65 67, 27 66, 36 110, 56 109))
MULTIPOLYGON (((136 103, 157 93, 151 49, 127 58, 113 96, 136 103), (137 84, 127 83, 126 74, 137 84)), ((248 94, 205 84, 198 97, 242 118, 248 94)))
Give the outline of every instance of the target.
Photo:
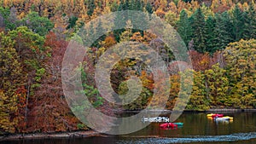
POLYGON ((230 43, 224 51, 230 77, 230 100, 233 107, 255 107, 256 40, 230 43))

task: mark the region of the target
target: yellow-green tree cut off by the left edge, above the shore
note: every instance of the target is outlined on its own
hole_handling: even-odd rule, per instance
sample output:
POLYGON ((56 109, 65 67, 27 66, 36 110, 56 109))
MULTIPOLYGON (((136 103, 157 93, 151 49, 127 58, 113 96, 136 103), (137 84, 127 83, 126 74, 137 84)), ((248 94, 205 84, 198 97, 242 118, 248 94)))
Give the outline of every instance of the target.
POLYGON ((0 130, 14 133, 17 107, 16 90, 22 82, 21 67, 14 49, 14 41, 0 33, 0 130))

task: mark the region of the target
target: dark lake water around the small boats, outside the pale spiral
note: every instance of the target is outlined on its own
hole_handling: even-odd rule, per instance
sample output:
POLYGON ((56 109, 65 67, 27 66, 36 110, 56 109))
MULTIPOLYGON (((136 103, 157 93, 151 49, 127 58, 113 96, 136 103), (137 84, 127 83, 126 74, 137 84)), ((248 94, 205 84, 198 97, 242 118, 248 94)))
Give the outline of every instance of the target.
MULTIPOLYGON (((106 135, 90 138, 2 141, 3 144, 256 144, 256 112, 224 113, 234 117, 233 122, 215 122, 207 113, 185 112, 177 119, 183 127, 160 129, 152 123, 130 135, 106 135)), ((168 116, 168 114, 164 114, 168 116)))

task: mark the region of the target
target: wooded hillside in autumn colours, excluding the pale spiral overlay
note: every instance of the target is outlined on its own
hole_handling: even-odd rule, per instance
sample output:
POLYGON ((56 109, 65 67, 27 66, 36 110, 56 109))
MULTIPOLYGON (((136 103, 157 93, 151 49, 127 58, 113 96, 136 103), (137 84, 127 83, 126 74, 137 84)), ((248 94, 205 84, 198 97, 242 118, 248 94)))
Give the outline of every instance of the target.
MULTIPOLYGON (((87 130, 69 109, 62 91, 61 63, 79 28, 102 14, 141 10, 166 20, 189 49, 194 84, 188 110, 256 108, 256 4, 235 0, 0 0, 0 134, 87 130)), ((127 25, 131 25, 129 20, 127 25)), ((104 21, 95 29, 108 29, 104 21)), ((93 34, 93 32, 92 32, 93 34)), ((125 73, 143 83, 136 101, 123 107, 102 99, 94 80, 97 59, 116 43, 148 44, 170 72, 172 110, 181 87, 178 61, 154 34, 124 28, 93 43, 80 67, 84 93, 94 107, 141 110, 154 93, 154 75, 140 60, 119 61, 111 72, 115 92, 125 94, 125 73), (137 68, 141 67, 141 68, 137 68)), ((185 64, 183 64, 185 65, 185 64)), ((183 95, 189 95, 184 93, 183 95)))

